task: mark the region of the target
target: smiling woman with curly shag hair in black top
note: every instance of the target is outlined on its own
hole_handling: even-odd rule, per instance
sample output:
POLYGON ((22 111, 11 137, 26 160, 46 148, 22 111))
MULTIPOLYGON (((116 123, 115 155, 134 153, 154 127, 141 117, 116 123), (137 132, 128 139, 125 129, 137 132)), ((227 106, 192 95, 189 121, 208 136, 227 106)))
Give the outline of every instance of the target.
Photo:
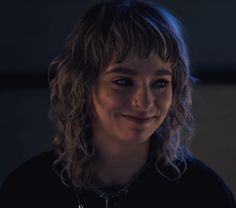
POLYGON ((92 7, 50 67, 55 151, 5 181, 1 207, 236 207, 195 159, 189 58, 157 5, 92 7))

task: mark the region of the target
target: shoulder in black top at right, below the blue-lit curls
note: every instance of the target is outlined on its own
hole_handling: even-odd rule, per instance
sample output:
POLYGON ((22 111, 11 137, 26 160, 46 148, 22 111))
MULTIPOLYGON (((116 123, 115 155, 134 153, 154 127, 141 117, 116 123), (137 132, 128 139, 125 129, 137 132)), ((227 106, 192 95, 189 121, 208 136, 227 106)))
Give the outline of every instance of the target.
POLYGON ((184 187, 185 194, 197 196, 211 207, 236 207, 232 191, 214 169, 194 157, 188 158, 186 165, 187 169, 177 183, 184 187))

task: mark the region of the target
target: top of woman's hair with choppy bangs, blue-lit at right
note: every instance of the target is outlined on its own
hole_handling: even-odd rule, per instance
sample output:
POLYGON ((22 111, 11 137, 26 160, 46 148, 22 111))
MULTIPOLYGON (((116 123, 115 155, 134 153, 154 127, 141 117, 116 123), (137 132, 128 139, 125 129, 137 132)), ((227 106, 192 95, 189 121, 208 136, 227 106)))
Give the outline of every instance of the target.
POLYGON ((70 37, 77 68, 91 82, 112 62, 159 56, 175 68, 187 51, 180 23, 163 8, 109 2, 89 10, 70 37))

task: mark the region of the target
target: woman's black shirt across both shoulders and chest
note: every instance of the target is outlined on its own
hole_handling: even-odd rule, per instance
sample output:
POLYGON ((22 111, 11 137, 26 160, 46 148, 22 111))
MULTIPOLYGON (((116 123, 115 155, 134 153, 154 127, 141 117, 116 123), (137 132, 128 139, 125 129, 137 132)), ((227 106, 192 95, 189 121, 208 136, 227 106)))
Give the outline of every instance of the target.
MULTIPOLYGON (((54 152, 45 152, 11 173, 1 187, 0 207, 78 208, 75 191, 56 175, 54 161, 54 152)), ((105 199, 94 191, 82 191, 79 196, 84 208, 106 207, 105 199)), ((150 163, 119 203, 120 208, 236 208, 223 180, 194 158, 187 160, 187 170, 175 181, 160 175, 150 163)))

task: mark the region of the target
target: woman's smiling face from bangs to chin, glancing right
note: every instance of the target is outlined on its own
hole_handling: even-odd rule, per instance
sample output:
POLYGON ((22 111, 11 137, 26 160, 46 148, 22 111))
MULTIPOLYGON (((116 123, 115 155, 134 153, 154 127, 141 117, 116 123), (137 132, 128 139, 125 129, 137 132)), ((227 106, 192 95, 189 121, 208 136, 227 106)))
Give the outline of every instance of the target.
POLYGON ((142 143, 164 121, 172 101, 169 63, 158 56, 110 64, 92 88, 95 140, 142 143))

